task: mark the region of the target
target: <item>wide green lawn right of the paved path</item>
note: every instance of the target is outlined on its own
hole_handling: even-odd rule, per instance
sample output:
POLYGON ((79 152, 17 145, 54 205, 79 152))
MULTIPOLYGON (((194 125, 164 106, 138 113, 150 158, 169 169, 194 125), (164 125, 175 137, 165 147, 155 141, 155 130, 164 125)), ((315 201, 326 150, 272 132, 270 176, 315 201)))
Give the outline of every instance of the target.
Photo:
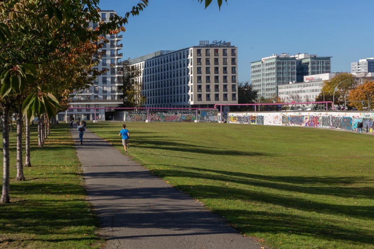
MULTIPOLYGON (((122 123, 88 128, 123 151, 122 123)), ((129 156, 272 248, 374 248, 373 136, 303 127, 127 123, 129 156)))

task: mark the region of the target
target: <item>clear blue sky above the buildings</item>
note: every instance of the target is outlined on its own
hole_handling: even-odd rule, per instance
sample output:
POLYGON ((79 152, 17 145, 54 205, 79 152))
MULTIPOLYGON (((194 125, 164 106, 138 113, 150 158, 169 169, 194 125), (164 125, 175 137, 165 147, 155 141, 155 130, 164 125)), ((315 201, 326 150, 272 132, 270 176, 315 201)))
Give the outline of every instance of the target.
MULTIPOLYGON (((273 53, 332 56, 331 72, 374 56, 373 0, 228 0, 204 9, 197 0, 149 0, 131 17, 123 35, 124 58, 158 50, 226 40, 238 47, 239 81, 250 80, 250 64, 273 53)), ((100 7, 124 15, 138 0, 101 0, 100 7)))

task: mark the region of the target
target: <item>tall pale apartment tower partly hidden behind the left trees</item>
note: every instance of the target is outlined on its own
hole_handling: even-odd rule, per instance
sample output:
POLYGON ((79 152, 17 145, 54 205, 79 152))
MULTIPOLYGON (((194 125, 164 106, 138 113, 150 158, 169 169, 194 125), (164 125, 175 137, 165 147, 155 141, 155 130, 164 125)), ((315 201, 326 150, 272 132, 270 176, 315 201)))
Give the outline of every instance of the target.
MULTIPOLYGON (((110 16, 114 15, 114 13, 116 13, 114 10, 101 10, 99 12, 101 20, 104 22, 108 22, 110 16)), ((97 25, 97 23, 89 23, 89 26, 93 29, 97 25)), ((93 120, 95 116, 98 119, 105 119, 105 110, 96 110, 96 114, 94 114, 93 109, 87 108, 117 107, 118 104, 123 103, 123 100, 118 97, 119 95, 122 96, 122 93, 117 90, 117 87, 122 85, 120 80, 120 77, 122 77, 122 66, 119 63, 120 59, 122 59, 122 53, 119 52, 122 49, 122 44, 119 44, 122 40, 122 34, 107 35, 106 38, 110 42, 104 44, 102 49, 100 49, 102 59, 95 68, 97 70, 107 68, 108 71, 99 76, 88 89, 77 92, 71 98, 71 107, 79 109, 59 113, 58 120, 67 120, 69 116, 74 117, 74 119, 80 118, 81 120, 93 120)))

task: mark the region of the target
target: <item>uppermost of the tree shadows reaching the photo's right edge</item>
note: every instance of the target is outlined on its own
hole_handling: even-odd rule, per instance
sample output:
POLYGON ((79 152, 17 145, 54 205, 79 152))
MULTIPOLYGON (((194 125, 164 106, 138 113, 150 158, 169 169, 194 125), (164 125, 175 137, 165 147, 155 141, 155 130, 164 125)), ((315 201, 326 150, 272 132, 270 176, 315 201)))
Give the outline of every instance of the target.
MULTIPOLYGON (((315 176, 266 176, 224 170, 209 170, 196 167, 184 167, 171 165, 174 169, 153 169, 161 177, 188 177, 194 179, 210 179, 222 182, 234 182, 255 187, 273 188, 289 192, 304 194, 317 194, 338 197, 368 198, 374 199, 373 187, 344 187, 341 184, 372 183, 369 177, 347 176, 347 177, 315 177, 315 176), (196 170, 198 172, 192 172, 196 170), (211 173, 212 172, 212 173, 211 173), (310 186, 309 184, 318 184, 310 186), (297 185, 307 184, 307 185, 297 185), (323 185, 321 185, 323 184, 323 185)), ((374 212, 374 209, 373 209, 374 212)))

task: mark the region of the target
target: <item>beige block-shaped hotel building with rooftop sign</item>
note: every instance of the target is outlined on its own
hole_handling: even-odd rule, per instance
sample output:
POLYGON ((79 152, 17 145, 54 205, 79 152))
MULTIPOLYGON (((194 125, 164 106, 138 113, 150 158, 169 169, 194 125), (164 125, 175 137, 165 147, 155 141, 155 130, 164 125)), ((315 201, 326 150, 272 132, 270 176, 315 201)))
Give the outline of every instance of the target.
POLYGON ((237 104, 237 47, 204 44, 160 50, 131 60, 141 70, 138 80, 147 97, 145 107, 237 104))

